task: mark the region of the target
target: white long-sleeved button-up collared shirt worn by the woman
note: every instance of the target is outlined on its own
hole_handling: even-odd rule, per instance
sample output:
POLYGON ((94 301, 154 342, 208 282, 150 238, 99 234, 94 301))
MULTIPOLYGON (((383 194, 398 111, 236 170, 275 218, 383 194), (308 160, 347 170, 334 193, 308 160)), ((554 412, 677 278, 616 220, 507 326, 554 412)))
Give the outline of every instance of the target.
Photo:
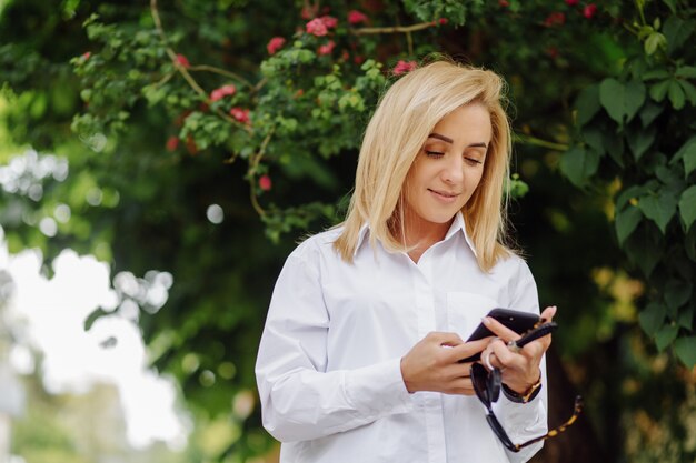
MULTIPOLYGON (((431 331, 466 340, 490 309, 539 313, 527 264, 510 256, 483 272, 460 214, 417 264, 372 249, 367 227, 348 264, 332 248, 339 233, 311 236, 289 255, 268 311, 256 374, 281 463, 529 460, 541 443, 507 451, 475 395, 409 394, 400 370, 431 331)), ((546 384, 544 362, 541 375, 546 384)), ((494 410, 513 442, 547 431, 546 389, 527 404, 500 394, 494 410)))

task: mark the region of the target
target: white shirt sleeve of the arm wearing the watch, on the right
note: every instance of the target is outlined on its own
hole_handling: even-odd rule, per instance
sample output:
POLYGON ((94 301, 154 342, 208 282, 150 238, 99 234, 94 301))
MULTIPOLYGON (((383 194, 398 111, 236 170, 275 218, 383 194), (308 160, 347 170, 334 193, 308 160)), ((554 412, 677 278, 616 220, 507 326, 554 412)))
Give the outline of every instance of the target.
MULTIPOLYGON (((521 259, 519 259, 517 275, 510 283, 514 288, 510 306, 525 312, 539 313, 537 285, 527 263, 521 259)), ((526 442, 544 435, 548 431, 546 358, 541 359, 540 370, 543 386, 533 401, 515 403, 509 401, 505 394, 500 394, 500 400, 494 404, 498 420, 514 443, 526 442)), ((506 453, 511 463, 524 463, 531 459, 543 446, 544 441, 521 449, 519 452, 510 452, 506 449, 506 453)))

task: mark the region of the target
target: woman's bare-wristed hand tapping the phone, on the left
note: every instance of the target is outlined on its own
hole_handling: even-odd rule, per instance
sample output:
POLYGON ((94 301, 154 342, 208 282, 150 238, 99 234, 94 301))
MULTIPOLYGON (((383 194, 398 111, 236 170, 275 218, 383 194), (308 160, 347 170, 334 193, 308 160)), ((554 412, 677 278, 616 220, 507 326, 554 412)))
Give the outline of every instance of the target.
POLYGON ((473 395, 471 362, 458 363, 483 351, 493 338, 464 342, 455 333, 432 332, 401 359, 401 376, 408 392, 435 391, 473 395))

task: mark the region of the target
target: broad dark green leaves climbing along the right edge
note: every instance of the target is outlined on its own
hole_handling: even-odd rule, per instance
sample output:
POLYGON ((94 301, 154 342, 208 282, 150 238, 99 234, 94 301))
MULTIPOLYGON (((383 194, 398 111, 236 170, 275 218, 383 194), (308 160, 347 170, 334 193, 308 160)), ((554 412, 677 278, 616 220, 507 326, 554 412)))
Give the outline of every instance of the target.
POLYGON ((640 324, 658 350, 674 344, 692 368, 696 359, 685 348, 696 332, 696 260, 682 250, 689 246, 696 214, 696 101, 689 82, 696 54, 687 46, 696 16, 676 4, 672 10, 638 4, 642 22, 629 29, 645 47, 633 48, 622 71, 601 81, 598 94, 586 90, 578 95, 577 139, 584 143, 564 154, 571 160, 561 162, 561 170, 578 185, 619 179, 614 204, 618 244, 649 288, 640 324), (654 18, 652 26, 646 17, 654 18), (664 34, 656 32, 660 23, 664 34), (587 152, 595 154, 589 161, 587 152))

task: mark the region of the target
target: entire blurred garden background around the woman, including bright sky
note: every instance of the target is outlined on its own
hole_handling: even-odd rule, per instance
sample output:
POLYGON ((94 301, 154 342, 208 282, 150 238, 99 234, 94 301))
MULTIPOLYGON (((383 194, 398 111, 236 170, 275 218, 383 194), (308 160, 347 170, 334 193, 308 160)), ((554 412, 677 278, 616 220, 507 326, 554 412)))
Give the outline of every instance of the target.
POLYGON ((687 0, 0 0, 0 462, 275 462, 275 279, 379 95, 508 83, 510 220, 559 308, 535 462, 696 460, 687 0))

